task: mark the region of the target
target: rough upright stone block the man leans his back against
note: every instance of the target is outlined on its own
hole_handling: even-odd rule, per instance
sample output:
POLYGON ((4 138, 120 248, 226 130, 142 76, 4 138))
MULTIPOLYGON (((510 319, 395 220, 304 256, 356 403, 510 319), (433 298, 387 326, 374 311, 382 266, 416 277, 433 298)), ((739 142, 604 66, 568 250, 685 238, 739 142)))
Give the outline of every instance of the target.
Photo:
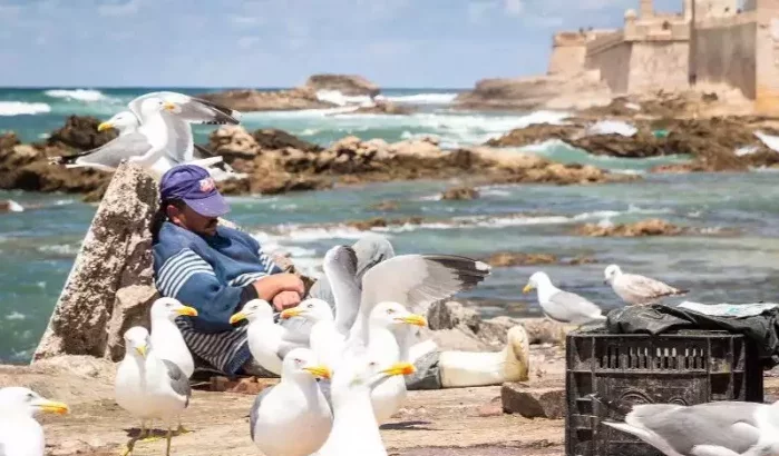
POLYGON ((121 356, 121 333, 156 297, 150 221, 157 185, 125 163, 114 175, 59 296, 33 363, 57 355, 121 356))

